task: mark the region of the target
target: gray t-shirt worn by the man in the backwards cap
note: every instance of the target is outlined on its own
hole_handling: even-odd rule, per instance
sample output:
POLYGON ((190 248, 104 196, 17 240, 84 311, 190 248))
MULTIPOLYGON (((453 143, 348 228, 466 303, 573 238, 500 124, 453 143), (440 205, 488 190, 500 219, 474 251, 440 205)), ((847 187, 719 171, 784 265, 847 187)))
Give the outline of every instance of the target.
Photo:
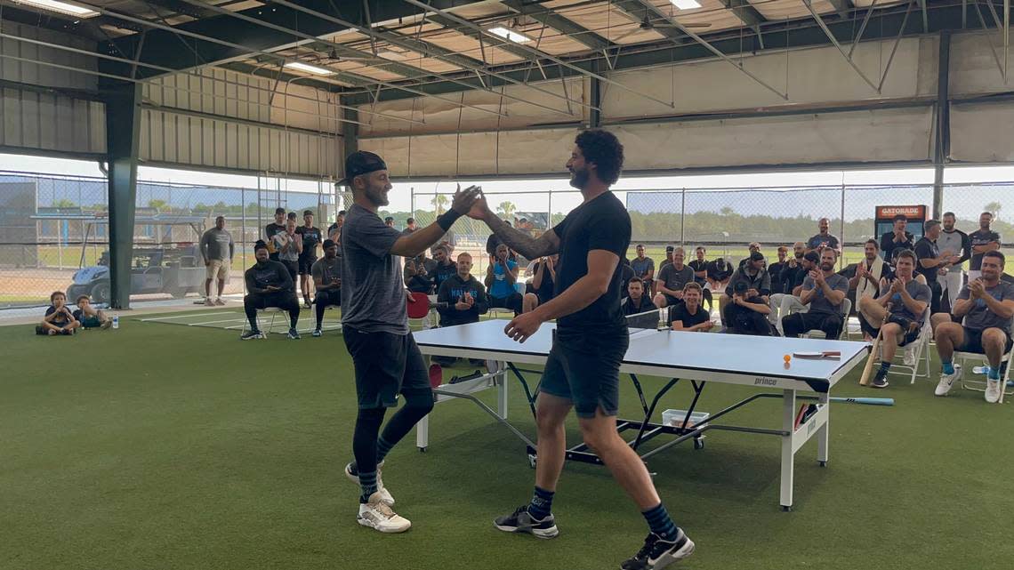
POLYGON ((342 326, 409 334, 402 264, 390 248, 402 232, 358 204, 342 226, 342 326))

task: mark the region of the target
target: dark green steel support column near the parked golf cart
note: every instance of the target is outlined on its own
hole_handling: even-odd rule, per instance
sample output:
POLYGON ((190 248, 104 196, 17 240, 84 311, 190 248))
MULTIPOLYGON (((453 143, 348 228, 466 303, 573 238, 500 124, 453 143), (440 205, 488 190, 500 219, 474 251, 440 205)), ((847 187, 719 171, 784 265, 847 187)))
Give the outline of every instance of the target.
POLYGON ((105 97, 110 203, 110 306, 119 309, 130 308, 137 153, 141 131, 140 102, 139 83, 111 86, 105 97))

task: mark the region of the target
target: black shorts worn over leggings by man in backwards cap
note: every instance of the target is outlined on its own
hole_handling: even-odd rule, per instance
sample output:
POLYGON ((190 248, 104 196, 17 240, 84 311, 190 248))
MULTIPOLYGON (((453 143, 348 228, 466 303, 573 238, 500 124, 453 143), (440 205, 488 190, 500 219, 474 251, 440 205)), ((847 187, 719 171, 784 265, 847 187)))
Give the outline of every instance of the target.
POLYGON ((412 333, 366 333, 351 327, 343 327, 342 333, 356 368, 361 410, 393 408, 399 394, 432 398, 426 361, 412 333))

